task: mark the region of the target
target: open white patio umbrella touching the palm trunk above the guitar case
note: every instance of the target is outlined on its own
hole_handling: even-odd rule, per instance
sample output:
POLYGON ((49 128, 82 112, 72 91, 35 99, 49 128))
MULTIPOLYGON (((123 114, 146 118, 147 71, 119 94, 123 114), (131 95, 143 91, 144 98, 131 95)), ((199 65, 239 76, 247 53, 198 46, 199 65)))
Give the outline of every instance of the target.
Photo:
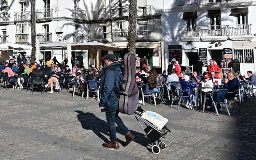
POLYGON ((119 48, 116 46, 112 46, 109 44, 100 43, 97 41, 88 42, 88 43, 78 43, 78 44, 72 44, 73 49, 94 49, 94 63, 96 59, 96 50, 111 50, 111 51, 120 51, 123 50, 123 48, 119 48))

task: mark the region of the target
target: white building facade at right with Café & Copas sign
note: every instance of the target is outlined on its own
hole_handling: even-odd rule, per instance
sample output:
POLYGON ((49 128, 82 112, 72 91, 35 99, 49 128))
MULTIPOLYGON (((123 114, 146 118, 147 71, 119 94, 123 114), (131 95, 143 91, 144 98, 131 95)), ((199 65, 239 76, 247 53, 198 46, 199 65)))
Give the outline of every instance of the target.
MULTIPOLYGON (((238 59, 241 75, 256 71, 255 0, 165 1, 162 12, 163 70, 175 58, 182 66, 206 70, 210 59, 238 59), (169 7, 169 8, 168 8, 169 7)), ((222 66, 231 68, 232 63, 222 66)))

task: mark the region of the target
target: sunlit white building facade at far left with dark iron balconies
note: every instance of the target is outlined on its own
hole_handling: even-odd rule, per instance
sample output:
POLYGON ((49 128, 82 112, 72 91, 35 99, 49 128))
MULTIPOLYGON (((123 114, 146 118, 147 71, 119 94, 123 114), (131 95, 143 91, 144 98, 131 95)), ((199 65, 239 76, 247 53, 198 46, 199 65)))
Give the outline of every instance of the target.
MULTIPOLYGON (((31 45, 30 28, 30 1, 13 0, 2 3, 3 9, 0 16, 0 43, 16 43, 31 45)), ((88 11, 84 1, 62 0, 37 0, 36 9, 36 34, 40 43, 67 42, 72 43, 88 41, 88 11)), ((63 59, 65 50, 56 48, 41 49, 40 59, 56 57, 59 62, 63 59)), ((31 50, 24 50, 26 55, 31 55, 31 50)), ((2 49, 2 54, 3 54, 2 49)), ((11 54, 11 53, 10 53, 11 54)), ((9 53, 8 53, 9 55, 9 53)), ((72 56, 87 66, 87 50, 74 50, 72 56)))

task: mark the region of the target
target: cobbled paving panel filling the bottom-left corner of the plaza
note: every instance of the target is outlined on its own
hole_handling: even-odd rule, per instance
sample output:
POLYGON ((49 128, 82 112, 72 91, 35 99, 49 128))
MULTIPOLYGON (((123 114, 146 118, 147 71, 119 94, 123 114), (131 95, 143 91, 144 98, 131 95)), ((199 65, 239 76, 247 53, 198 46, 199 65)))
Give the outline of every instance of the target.
POLYGON ((59 147, 35 141, 30 138, 5 138, 0 140, 0 159, 29 159, 51 151, 59 147))

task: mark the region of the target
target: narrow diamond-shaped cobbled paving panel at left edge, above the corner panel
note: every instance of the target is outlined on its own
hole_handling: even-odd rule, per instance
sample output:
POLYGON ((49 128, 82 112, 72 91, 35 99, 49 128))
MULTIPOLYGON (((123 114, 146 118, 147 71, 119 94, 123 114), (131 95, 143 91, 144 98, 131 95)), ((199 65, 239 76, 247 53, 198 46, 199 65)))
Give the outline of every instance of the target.
POLYGON ((3 123, 10 124, 13 126, 25 127, 30 129, 40 129, 44 127, 56 126, 56 125, 65 123, 64 121, 53 120, 50 117, 36 117, 36 116, 15 118, 11 120, 6 120, 6 121, 1 120, 1 121, 3 123))

